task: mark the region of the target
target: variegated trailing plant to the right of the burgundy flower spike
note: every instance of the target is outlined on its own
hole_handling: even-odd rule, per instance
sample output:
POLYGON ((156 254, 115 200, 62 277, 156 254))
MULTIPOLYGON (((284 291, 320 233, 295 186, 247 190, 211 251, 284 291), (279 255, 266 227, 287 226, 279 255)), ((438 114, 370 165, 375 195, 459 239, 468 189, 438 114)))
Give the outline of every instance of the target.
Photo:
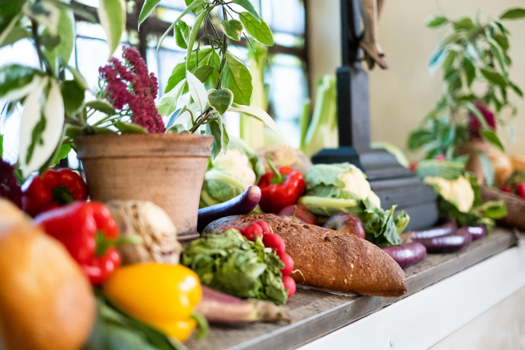
MULTIPOLYGON (((144 2, 139 29, 159 2, 144 2)), ((177 46, 186 50, 186 56, 174 67, 165 94, 157 104, 160 114, 167 119, 166 132, 213 135, 213 157, 228 147, 229 137, 223 120, 227 111, 255 118, 280 134, 274 120, 264 110, 250 105, 253 89, 250 71, 228 50, 229 42, 238 42, 241 37, 245 37, 248 46, 250 40, 274 45, 268 25, 248 0, 186 0, 186 4, 188 7, 159 40, 160 46, 173 31, 177 46), (241 8, 244 10, 238 10, 241 8), (218 25, 212 22, 213 10, 222 14, 218 25), (190 12, 196 16, 193 27, 182 20, 190 12), (190 94, 189 103, 184 103, 186 93, 190 94)))

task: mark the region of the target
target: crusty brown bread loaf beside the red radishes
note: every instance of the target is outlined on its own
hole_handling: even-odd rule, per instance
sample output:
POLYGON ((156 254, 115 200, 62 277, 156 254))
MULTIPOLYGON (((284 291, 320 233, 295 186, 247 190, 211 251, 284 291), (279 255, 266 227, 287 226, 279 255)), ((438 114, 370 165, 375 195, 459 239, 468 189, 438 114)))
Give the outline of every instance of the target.
POLYGON ((294 261, 297 283, 363 295, 401 296, 406 277, 399 265, 375 245, 355 235, 297 224, 271 214, 227 216, 213 221, 204 232, 224 226, 264 220, 286 243, 294 261))

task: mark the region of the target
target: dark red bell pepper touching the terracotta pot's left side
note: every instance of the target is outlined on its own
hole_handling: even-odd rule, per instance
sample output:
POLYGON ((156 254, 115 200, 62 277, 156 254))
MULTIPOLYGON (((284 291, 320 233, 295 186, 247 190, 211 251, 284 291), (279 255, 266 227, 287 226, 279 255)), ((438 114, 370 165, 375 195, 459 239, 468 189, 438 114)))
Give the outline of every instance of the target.
POLYGON ((88 188, 83 179, 71 169, 48 170, 35 176, 24 190, 22 207, 30 216, 88 199, 88 188))

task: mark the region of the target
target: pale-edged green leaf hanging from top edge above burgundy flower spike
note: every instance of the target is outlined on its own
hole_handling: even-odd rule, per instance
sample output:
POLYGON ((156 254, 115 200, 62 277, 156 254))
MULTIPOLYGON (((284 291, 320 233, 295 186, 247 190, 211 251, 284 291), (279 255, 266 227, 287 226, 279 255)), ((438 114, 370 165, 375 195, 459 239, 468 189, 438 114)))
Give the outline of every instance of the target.
POLYGON ((97 13, 100 24, 106 31, 109 58, 111 58, 126 28, 126 6, 124 0, 99 0, 99 2, 97 13))

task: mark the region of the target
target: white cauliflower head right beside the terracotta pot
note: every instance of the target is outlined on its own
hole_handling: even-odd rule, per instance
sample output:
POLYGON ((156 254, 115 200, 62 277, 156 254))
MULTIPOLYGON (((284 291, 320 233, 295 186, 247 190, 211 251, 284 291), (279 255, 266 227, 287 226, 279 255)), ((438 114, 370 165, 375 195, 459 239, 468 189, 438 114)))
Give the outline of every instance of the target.
POLYGON ((213 167, 235 176, 246 185, 254 185, 257 176, 248 157, 237 149, 220 152, 212 162, 213 167))

